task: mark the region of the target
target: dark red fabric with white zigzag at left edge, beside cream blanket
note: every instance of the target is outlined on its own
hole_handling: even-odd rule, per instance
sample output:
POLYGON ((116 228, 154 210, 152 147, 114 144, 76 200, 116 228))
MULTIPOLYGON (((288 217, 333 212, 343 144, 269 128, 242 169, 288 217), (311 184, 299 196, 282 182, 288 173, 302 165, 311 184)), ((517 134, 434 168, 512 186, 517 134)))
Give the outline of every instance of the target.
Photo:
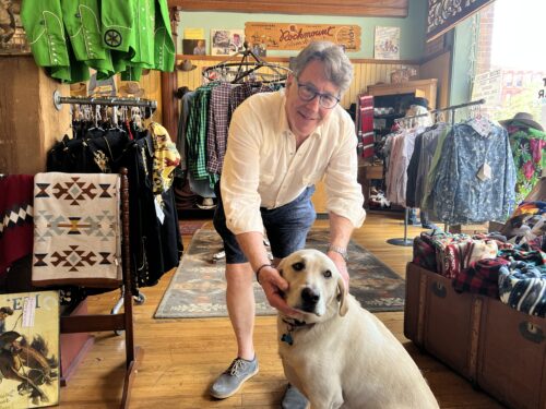
POLYGON ((0 275, 33 251, 32 204, 34 176, 11 175, 0 179, 0 275))

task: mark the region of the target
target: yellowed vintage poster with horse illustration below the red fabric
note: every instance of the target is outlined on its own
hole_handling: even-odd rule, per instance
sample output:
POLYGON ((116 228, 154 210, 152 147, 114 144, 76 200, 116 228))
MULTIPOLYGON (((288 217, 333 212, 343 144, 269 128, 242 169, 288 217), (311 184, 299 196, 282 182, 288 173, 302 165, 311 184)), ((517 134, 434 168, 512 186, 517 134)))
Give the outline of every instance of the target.
POLYGON ((0 409, 59 405, 59 293, 0 294, 0 409))

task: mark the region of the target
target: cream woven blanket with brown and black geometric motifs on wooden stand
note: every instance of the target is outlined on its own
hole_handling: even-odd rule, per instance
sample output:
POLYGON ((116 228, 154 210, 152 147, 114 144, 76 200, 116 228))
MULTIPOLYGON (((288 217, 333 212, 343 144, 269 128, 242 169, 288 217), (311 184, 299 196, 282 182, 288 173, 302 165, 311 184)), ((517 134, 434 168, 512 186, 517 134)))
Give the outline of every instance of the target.
POLYGON ((118 175, 36 175, 33 285, 119 286, 119 183, 118 175))

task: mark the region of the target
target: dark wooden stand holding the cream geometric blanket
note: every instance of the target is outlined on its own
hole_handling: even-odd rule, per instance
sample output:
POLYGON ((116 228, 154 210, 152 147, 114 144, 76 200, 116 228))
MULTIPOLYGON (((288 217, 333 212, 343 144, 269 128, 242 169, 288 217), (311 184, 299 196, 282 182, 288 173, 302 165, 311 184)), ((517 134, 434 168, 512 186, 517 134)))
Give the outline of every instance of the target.
POLYGON ((121 314, 71 315, 60 317, 61 334, 94 333, 105 330, 126 332, 126 375, 120 408, 129 408, 129 397, 138 365, 142 361, 144 350, 134 346, 132 314, 132 275, 131 249, 129 239, 129 180, 127 169, 121 169, 121 224, 122 224, 122 277, 124 311, 121 314))

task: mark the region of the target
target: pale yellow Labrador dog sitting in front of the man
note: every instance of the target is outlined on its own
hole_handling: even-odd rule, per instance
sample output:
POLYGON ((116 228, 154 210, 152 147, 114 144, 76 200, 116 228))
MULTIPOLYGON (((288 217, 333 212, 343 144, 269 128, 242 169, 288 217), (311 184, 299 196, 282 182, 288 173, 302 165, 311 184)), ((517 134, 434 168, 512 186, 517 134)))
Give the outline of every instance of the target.
POLYGON ((278 316, 284 373, 322 408, 438 408, 432 392, 402 344, 345 289, 334 263, 300 250, 278 265, 297 320, 278 316))

